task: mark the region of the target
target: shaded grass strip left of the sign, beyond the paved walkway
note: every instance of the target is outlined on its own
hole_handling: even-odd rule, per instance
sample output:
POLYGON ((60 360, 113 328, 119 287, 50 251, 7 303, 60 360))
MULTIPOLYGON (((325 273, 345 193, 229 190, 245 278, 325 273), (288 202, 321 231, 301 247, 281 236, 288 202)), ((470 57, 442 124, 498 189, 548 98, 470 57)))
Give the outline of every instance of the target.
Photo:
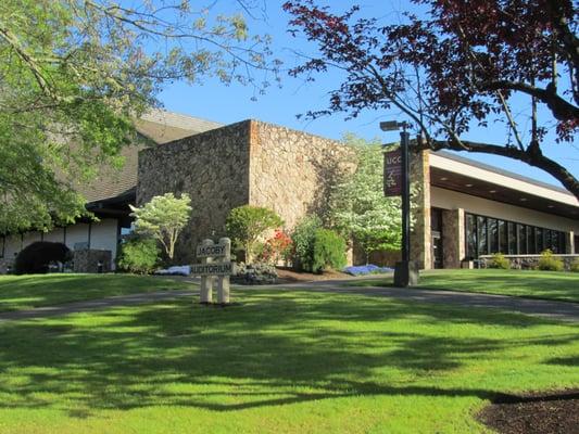
POLYGON ((0 276, 0 311, 190 288, 176 280, 127 275, 0 276))

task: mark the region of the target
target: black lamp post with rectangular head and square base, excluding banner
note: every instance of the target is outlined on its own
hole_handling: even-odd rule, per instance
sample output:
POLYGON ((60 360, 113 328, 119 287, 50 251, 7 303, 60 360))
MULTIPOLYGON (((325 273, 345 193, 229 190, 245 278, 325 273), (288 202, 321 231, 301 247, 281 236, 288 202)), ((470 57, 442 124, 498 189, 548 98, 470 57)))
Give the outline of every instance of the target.
POLYGON ((410 158, 410 125, 405 122, 389 120, 380 123, 382 131, 400 131, 402 151, 402 260, 394 268, 394 285, 406 288, 418 283, 418 267, 411 260, 411 158, 410 158))

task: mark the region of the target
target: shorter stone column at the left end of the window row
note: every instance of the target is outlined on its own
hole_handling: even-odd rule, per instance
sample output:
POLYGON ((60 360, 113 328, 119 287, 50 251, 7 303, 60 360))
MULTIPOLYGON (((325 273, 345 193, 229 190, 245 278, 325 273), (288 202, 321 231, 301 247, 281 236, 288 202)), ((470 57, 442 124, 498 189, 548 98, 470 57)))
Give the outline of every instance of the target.
POLYGON ((465 210, 442 212, 442 253, 444 268, 461 268, 465 257, 465 210))

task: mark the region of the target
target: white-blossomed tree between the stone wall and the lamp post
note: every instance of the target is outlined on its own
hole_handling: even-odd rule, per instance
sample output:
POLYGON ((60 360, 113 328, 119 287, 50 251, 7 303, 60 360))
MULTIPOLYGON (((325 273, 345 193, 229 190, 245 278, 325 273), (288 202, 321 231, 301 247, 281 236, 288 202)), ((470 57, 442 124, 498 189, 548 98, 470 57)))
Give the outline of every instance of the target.
POLYGON ((355 149, 357 165, 330 199, 330 224, 362 247, 367 263, 372 252, 400 248, 401 203, 383 195, 380 143, 353 135, 347 135, 344 141, 355 149))

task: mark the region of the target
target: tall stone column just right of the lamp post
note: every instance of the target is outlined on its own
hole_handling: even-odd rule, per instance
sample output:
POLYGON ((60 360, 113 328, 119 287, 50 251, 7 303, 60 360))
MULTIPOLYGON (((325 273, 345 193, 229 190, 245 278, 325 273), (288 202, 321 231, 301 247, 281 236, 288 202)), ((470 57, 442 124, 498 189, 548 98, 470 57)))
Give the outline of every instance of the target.
POLYGON ((432 268, 429 156, 428 151, 413 152, 411 156, 411 260, 427 270, 432 268))

